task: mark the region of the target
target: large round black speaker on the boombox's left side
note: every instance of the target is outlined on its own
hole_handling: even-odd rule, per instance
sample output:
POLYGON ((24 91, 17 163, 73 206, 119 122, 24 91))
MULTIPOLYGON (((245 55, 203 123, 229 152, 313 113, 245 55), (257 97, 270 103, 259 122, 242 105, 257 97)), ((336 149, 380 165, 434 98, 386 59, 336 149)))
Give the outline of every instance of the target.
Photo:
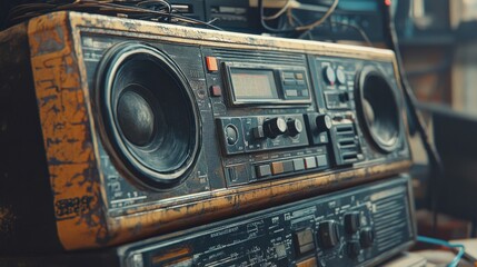
POLYGON ((191 89, 165 53, 142 43, 108 50, 97 79, 106 147, 146 185, 177 185, 193 168, 200 120, 191 89))

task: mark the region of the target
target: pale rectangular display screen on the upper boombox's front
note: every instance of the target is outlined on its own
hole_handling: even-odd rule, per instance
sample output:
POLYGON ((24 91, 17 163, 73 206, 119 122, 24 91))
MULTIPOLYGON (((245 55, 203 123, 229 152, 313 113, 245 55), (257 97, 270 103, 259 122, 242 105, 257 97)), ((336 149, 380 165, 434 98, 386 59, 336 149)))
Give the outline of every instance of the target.
POLYGON ((230 80, 236 101, 278 99, 272 70, 230 68, 230 80))

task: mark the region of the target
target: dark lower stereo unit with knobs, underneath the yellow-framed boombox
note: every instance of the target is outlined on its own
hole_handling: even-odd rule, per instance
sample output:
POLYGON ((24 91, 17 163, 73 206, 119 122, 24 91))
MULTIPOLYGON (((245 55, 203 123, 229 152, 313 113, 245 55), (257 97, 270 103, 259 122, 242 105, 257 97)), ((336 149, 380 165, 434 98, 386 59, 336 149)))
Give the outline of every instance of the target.
POLYGON ((0 257, 0 266, 376 266, 414 244, 410 181, 399 175, 99 251, 0 257))

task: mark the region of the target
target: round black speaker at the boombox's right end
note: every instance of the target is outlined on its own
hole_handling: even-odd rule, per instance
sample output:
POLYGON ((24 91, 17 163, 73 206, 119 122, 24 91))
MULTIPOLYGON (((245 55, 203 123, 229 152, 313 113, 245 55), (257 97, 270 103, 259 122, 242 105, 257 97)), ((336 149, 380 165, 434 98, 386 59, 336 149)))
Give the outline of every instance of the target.
POLYGON ((356 85, 356 107, 362 128, 380 151, 394 151, 401 134, 396 92, 374 66, 362 68, 356 85))

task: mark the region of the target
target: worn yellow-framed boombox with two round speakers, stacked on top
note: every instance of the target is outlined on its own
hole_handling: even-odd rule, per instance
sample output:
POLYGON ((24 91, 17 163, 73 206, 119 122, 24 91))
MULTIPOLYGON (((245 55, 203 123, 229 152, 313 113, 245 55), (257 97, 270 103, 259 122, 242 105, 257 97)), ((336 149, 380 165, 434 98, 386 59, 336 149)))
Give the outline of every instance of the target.
POLYGON ((0 250, 111 246, 411 164, 395 55, 76 12, 0 34, 0 250))

